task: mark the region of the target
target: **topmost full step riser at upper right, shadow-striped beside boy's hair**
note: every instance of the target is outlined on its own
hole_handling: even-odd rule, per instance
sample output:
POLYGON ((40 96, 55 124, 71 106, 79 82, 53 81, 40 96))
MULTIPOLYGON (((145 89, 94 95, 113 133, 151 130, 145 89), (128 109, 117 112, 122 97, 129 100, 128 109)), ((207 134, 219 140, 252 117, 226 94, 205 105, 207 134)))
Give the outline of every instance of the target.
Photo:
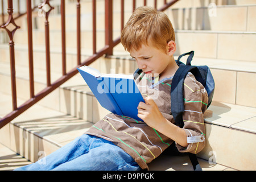
MULTIPOLYGON (((180 1, 181 2, 181 1, 180 1)), ((206 6, 166 10, 175 30, 256 31, 254 5, 206 6)))

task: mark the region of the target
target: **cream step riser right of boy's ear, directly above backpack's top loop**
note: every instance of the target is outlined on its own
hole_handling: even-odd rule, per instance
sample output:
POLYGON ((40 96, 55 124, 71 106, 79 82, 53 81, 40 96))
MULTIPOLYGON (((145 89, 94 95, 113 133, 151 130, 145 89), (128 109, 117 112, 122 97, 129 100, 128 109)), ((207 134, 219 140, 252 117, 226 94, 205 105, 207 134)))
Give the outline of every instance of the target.
POLYGON ((179 30, 175 54, 193 50, 197 57, 255 62, 255 35, 255 32, 179 30))

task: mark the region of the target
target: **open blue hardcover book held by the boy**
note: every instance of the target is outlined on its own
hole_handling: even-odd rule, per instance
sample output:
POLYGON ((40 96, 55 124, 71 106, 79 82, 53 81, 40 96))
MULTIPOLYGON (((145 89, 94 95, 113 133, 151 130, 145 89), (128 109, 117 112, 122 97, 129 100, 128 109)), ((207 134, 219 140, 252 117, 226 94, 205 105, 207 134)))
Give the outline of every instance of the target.
POLYGON ((97 69, 87 66, 77 69, 102 107, 114 114, 142 121, 137 116, 137 107, 144 99, 133 75, 101 75, 97 69))

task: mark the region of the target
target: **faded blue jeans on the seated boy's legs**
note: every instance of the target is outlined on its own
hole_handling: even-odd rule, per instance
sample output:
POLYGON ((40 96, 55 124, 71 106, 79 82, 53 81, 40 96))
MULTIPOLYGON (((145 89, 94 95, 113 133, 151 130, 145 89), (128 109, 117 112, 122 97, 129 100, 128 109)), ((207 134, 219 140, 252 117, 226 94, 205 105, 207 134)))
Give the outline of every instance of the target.
POLYGON ((141 168, 112 142, 84 134, 38 162, 15 170, 137 171, 141 168))

